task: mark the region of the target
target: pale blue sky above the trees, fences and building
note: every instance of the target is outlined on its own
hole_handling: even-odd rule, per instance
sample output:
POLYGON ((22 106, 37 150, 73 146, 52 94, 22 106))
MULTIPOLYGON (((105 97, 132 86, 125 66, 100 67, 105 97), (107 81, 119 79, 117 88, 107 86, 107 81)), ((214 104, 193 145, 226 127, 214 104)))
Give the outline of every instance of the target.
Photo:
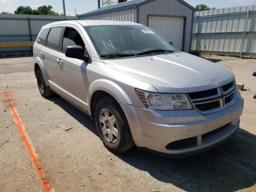
MULTIPOLYGON (((256 4, 256 0, 185 0, 188 4, 196 6, 197 4, 206 4, 209 7, 226 8, 235 6, 246 6, 256 4)), ((51 5, 53 10, 62 13, 62 0, 0 0, 0 12, 6 11, 14 13, 18 6, 30 6, 36 9, 42 5, 51 5)), ((97 0, 65 0, 66 15, 74 16, 98 8, 97 0)))

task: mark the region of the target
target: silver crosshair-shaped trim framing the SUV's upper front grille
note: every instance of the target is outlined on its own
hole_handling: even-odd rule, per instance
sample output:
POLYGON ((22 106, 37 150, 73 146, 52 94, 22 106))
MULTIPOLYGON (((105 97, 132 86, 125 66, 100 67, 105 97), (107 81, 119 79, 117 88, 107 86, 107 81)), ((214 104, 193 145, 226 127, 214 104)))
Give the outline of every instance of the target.
MULTIPOLYGON (((230 83, 229 83, 230 84, 230 83)), ((226 84, 228 85, 228 84, 226 84)), ((224 86, 226 86, 224 85, 224 86)), ((229 106, 231 106, 232 104, 234 104, 234 96, 235 96, 235 87, 234 87, 234 82, 232 84, 232 87, 229 88, 228 90, 226 90, 225 92, 223 91, 222 87, 218 87, 218 93, 214 96, 210 96, 210 97, 205 97, 205 98, 196 98, 196 99, 190 99, 189 94, 187 94, 188 98, 190 99, 193 107, 200 113, 202 114, 210 114, 210 113, 214 113, 214 112, 218 112, 220 110, 223 110, 224 108, 228 108, 229 106), (230 102, 228 102, 227 104, 225 104, 225 98, 234 94, 233 98, 230 100, 230 102), (209 104, 211 102, 216 102, 219 101, 220 102, 220 106, 210 109, 210 110, 200 110, 198 109, 196 106, 197 105, 202 105, 202 104, 209 104)))

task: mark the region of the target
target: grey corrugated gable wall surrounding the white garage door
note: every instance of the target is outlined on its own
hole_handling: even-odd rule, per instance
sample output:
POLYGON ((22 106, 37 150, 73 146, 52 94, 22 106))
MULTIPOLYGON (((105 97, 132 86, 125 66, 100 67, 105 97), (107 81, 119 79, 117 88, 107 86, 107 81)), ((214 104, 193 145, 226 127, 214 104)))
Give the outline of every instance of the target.
POLYGON ((192 12, 190 8, 176 0, 155 0, 140 6, 139 23, 147 26, 149 14, 157 16, 186 16, 185 36, 183 41, 184 51, 189 52, 192 12))

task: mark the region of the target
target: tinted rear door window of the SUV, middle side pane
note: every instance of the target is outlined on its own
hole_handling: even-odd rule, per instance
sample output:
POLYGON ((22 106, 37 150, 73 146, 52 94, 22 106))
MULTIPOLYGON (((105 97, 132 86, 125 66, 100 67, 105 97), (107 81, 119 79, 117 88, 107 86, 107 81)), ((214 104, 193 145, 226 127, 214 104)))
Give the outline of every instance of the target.
POLYGON ((54 49, 58 49, 61 32, 62 32, 62 27, 51 28, 51 30, 48 34, 46 46, 49 46, 54 49))

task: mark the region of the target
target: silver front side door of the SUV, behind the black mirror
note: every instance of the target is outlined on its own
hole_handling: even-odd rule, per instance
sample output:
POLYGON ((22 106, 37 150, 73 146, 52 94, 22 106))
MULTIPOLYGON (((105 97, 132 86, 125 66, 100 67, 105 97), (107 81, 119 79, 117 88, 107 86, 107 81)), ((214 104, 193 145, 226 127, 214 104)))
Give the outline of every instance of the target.
POLYGON ((80 29, 74 25, 66 24, 61 39, 60 52, 56 56, 61 94, 84 110, 88 110, 86 93, 86 67, 88 63, 80 59, 66 57, 65 50, 70 45, 82 46, 85 54, 88 55, 87 44, 80 29))

